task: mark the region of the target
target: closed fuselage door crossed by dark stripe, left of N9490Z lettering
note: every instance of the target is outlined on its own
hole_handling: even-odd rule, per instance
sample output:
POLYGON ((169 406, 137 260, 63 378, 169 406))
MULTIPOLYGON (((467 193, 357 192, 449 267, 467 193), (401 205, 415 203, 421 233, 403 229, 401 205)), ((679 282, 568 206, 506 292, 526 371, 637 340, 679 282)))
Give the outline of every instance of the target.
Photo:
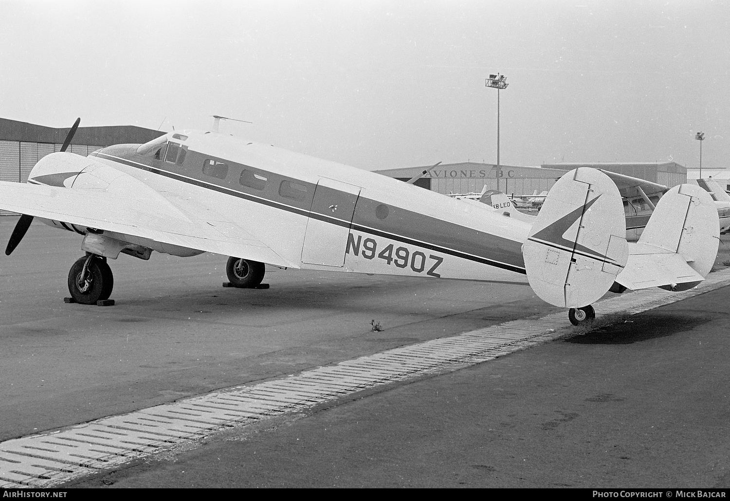
POLYGON ((345 247, 360 187, 321 177, 315 188, 301 262, 345 265, 345 247))

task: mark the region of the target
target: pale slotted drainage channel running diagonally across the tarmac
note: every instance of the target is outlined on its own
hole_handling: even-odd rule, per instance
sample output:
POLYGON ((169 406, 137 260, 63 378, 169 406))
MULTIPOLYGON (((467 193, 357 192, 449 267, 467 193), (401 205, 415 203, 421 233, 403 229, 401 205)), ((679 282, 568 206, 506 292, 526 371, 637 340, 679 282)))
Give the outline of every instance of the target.
MULTIPOLYGON (((645 290, 601 300, 596 317, 637 314, 730 285, 730 268, 685 292, 645 290)), ((0 443, 0 488, 53 487, 132 459, 271 416, 427 373, 450 372, 561 338, 564 311, 306 370, 250 387, 234 387, 171 404, 0 443)))

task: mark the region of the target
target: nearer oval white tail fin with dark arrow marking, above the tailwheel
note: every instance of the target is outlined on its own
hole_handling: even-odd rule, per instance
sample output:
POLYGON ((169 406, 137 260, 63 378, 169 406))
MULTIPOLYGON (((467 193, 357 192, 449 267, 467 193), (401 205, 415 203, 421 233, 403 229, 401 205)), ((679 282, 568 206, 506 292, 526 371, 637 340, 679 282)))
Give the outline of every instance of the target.
POLYGON ((588 306, 602 297, 628 259, 618 188, 593 168, 558 179, 522 249, 527 279, 546 302, 588 306))

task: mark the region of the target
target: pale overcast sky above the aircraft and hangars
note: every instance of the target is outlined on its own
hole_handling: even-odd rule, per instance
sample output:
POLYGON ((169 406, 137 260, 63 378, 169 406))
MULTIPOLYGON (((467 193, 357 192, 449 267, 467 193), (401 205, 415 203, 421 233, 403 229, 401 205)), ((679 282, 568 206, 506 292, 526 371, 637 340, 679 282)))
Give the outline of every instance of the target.
POLYGON ((366 169, 730 167, 730 1, 0 0, 0 117, 210 128, 366 169))

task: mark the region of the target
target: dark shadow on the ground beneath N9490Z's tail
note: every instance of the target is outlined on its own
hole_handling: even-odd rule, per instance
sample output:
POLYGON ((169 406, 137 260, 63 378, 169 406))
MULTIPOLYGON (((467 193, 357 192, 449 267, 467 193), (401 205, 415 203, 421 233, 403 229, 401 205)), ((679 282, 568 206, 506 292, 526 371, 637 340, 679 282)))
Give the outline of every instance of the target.
POLYGON ((621 322, 589 333, 564 338, 566 343, 576 344, 631 344, 650 339, 664 338, 685 330, 707 324, 715 319, 708 314, 639 314, 621 322))

